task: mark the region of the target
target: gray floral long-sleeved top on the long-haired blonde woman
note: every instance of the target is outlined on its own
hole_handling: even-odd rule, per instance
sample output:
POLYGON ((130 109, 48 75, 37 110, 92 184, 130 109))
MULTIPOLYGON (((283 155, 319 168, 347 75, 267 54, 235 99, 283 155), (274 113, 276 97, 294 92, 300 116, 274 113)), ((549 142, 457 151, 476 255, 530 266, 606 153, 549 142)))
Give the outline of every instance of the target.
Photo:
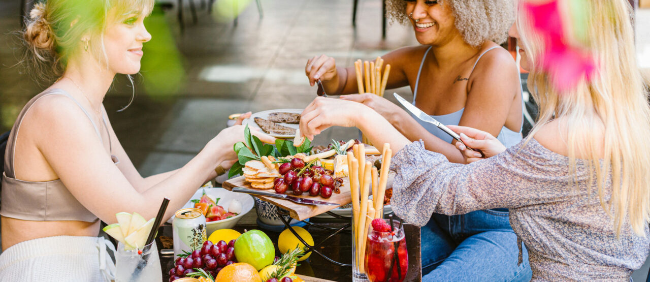
MULTIPOLYGON (((425 225, 433 212, 510 209, 510 225, 528 248, 533 281, 629 281, 650 250, 647 227, 644 238, 625 222, 616 238, 586 160, 577 160, 577 185, 569 185, 569 158, 535 139, 471 164, 450 163, 413 142, 392 163, 397 175, 391 205, 411 224, 425 225)), ((608 200, 611 183, 604 189, 608 200)))

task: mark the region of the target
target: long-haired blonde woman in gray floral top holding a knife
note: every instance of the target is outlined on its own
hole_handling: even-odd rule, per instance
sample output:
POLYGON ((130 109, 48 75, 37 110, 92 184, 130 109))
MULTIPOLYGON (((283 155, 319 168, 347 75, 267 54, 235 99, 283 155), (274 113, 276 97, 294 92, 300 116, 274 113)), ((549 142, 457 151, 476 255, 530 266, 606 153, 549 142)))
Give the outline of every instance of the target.
POLYGON ((575 35, 567 41, 597 66, 560 88, 543 67, 551 58, 523 9, 538 2, 521 1, 509 32, 540 107, 536 127, 519 144, 505 149, 489 133, 450 126, 487 157, 458 142, 471 163, 453 164, 365 105, 321 97, 304 110, 300 131, 313 138, 333 125, 358 127, 373 144, 390 143, 397 172, 391 204, 411 224, 426 224, 433 212, 510 209, 534 281, 629 281, 650 250, 650 108, 634 58, 631 8, 625 0, 578 1, 584 14, 572 16, 576 1, 557 0, 567 34, 575 35))

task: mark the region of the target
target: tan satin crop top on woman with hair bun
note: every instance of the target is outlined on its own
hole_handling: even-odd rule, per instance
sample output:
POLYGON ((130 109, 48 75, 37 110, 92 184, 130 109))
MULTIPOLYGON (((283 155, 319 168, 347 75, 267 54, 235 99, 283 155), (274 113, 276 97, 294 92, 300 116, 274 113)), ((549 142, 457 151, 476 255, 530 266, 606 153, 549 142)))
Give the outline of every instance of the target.
MULTIPOLYGON (((19 220, 80 220, 83 222, 95 222, 98 217, 88 211, 77 199, 72 196, 68 188, 63 185, 61 179, 45 182, 22 181, 16 179, 14 172, 14 151, 16 148, 16 138, 20 130, 20 124, 25 114, 31 109, 32 105, 40 98, 50 95, 63 95, 72 99, 79 107, 81 104, 75 100, 68 92, 61 89, 51 89, 37 96, 34 96, 27 105, 21 110, 14 127, 11 129, 9 139, 6 144, 5 152, 5 173, 2 175, 2 205, 0 215, 8 218, 17 218, 19 220)), ((99 129, 90 118, 90 114, 81 107, 85 112, 95 131, 101 140, 99 129)), ((106 124, 102 116, 102 122, 106 124)), ((106 126, 104 126, 106 127, 106 126)), ((108 129, 107 129, 108 130, 108 129)), ((110 141, 109 141, 110 143, 110 141)), ((112 151, 112 147, 111 147, 112 151)), ((113 158, 116 160, 116 158, 113 158)), ((114 161, 115 162, 115 161, 114 161)))

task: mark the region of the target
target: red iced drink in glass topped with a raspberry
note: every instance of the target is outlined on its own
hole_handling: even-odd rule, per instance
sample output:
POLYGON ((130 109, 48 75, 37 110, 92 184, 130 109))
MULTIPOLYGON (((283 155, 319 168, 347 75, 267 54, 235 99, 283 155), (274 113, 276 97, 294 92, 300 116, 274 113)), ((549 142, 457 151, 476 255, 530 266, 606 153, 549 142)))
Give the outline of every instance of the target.
POLYGON ((404 228, 393 220, 372 220, 365 249, 365 272, 371 282, 402 282, 408 270, 404 228))

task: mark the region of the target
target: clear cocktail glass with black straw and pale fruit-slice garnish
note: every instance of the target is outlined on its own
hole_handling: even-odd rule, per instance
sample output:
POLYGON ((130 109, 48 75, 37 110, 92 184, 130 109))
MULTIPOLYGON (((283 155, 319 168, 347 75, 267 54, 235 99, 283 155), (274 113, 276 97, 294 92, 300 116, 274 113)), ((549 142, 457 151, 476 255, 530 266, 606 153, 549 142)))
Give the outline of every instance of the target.
POLYGON ((155 241, 133 250, 125 250, 124 244, 120 242, 115 253, 115 261, 116 282, 162 281, 161 261, 155 241))

